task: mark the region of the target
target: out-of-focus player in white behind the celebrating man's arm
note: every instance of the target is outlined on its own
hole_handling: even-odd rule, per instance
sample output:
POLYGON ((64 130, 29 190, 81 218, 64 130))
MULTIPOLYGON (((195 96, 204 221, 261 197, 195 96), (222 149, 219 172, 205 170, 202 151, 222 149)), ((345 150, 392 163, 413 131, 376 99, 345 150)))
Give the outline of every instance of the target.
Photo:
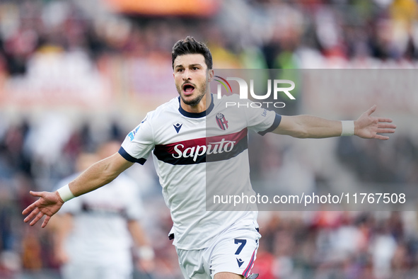
MULTIPOLYGON (((119 147, 110 141, 100 144, 96 154, 79 154, 76 169, 84 171, 119 147)), ((64 178, 60 186, 78 175, 64 178)), ((50 224, 62 278, 133 278, 132 251, 138 267, 151 272, 153 249, 141 225, 143 215, 137 183, 123 173, 108 186, 65 203, 50 224)))

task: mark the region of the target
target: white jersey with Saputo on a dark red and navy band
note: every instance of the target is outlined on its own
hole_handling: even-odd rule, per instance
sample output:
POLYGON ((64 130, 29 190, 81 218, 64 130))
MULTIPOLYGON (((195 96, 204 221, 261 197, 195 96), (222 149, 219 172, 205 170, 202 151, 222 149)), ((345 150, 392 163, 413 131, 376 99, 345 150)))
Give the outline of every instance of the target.
POLYGON ((248 129, 274 130, 281 117, 262 108, 226 108, 236 95, 211 96, 202 113, 188 113, 180 97, 159 106, 122 143, 120 154, 144 164, 153 151, 163 197, 173 219, 179 249, 204 249, 234 223, 257 226, 257 211, 207 211, 207 185, 253 193, 248 162, 248 129))

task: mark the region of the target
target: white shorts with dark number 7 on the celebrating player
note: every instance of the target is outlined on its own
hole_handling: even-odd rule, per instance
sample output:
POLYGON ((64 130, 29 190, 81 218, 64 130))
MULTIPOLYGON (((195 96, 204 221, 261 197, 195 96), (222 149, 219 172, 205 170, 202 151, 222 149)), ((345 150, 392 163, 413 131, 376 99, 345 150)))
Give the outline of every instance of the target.
POLYGON ((254 226, 228 229, 212 244, 200 250, 178 249, 178 261, 185 278, 211 279, 216 273, 250 274, 261 235, 254 226))

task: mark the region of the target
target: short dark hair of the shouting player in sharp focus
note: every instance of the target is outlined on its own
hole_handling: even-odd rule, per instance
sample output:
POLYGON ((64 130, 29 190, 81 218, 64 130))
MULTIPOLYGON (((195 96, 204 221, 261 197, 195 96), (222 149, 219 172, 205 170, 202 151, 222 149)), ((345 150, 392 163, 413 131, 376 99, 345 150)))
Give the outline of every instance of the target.
POLYGON ((197 40, 191 36, 187 36, 184 40, 179 40, 174 44, 173 51, 171 52, 171 66, 174 69, 174 60, 176 57, 180 55, 195 54, 203 55, 207 68, 212 69, 212 55, 209 47, 207 47, 204 42, 197 42, 197 40))

